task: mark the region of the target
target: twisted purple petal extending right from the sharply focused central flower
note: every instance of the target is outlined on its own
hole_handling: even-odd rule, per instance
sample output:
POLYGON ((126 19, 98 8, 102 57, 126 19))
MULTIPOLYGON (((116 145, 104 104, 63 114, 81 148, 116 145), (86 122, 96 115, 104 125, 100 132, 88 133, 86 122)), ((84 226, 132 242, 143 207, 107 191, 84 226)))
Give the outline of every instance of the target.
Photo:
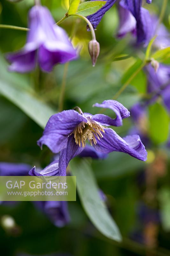
MULTIPOLYGON (((97 140, 97 139, 96 139, 97 140)), ((147 152, 138 135, 129 135, 121 138, 115 131, 110 128, 105 129, 102 139, 97 140, 94 146, 96 150, 103 153, 112 151, 124 152, 139 160, 146 161, 147 152)))

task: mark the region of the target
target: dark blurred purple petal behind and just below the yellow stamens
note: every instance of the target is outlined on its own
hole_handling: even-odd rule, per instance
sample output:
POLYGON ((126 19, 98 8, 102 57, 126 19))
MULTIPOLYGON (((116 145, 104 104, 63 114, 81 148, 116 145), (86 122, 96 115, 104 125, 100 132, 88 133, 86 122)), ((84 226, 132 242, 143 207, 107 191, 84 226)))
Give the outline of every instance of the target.
POLYGON ((90 145, 86 145, 83 151, 79 154, 80 157, 92 157, 95 159, 104 159, 107 157, 107 154, 98 152, 95 148, 90 145))

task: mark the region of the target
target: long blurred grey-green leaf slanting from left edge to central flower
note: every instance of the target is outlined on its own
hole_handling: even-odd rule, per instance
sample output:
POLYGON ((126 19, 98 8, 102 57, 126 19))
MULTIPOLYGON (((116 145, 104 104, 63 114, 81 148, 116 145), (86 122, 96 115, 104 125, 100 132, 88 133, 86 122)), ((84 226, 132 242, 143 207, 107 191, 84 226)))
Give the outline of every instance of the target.
POLYGON ((49 117, 57 111, 36 97, 26 76, 8 72, 7 63, 0 55, 0 94, 20 108, 27 116, 44 128, 49 117))

